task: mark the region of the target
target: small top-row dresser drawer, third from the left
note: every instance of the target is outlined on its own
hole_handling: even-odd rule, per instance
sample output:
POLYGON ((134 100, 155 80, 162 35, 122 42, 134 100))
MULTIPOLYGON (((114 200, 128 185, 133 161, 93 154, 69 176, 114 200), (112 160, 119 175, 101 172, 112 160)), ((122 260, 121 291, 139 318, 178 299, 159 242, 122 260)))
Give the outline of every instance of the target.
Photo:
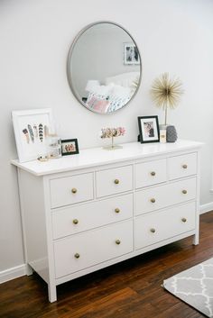
POLYGON ((135 188, 153 186, 166 181, 166 159, 135 165, 135 188))

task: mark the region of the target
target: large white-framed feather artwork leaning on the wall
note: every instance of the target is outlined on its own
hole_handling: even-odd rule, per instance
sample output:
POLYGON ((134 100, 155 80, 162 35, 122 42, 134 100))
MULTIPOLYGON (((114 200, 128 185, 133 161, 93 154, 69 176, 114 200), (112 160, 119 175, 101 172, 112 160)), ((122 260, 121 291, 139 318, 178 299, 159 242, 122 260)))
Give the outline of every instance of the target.
POLYGON ((12 112, 14 137, 20 162, 45 155, 46 138, 53 128, 51 108, 12 112))

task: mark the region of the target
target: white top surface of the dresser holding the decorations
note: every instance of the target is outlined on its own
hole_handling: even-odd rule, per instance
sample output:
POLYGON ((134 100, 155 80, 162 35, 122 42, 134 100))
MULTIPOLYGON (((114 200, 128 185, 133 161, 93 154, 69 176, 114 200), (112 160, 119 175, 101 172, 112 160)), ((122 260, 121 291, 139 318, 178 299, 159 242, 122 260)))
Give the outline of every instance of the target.
POLYGON ((80 150, 78 155, 64 156, 60 159, 50 159, 44 162, 32 160, 24 163, 20 163, 18 159, 13 159, 11 163, 35 176, 44 176, 81 168, 119 163, 131 159, 144 159, 161 154, 199 149, 201 146, 201 142, 184 140, 179 140, 174 143, 154 142, 144 144, 140 142, 130 142, 122 144, 123 148, 117 150, 91 148, 80 150))

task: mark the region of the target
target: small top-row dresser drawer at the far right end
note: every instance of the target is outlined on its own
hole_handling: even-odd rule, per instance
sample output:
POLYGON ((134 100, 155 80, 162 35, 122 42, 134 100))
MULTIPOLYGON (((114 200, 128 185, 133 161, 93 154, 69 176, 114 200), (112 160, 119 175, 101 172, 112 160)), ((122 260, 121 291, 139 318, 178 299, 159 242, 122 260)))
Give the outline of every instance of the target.
POLYGON ((188 177, 197 173, 197 153, 190 153, 168 159, 169 179, 188 177))

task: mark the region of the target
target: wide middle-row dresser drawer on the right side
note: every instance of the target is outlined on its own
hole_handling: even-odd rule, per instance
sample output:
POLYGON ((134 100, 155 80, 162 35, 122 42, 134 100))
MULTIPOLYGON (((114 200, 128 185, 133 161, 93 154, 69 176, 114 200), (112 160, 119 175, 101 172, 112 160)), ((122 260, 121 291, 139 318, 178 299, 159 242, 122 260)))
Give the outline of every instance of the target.
POLYGON ((135 193, 135 214, 145 214, 196 197, 196 177, 153 186, 135 193))

